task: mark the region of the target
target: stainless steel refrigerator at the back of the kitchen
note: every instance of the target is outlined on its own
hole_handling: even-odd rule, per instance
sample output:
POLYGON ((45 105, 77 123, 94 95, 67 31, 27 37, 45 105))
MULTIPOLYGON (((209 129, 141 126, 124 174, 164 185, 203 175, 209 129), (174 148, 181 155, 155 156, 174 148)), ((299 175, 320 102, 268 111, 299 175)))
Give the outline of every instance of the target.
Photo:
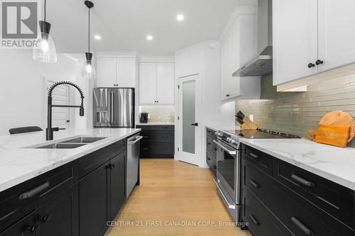
POLYGON ((94 127, 134 128, 134 89, 94 89, 94 127))

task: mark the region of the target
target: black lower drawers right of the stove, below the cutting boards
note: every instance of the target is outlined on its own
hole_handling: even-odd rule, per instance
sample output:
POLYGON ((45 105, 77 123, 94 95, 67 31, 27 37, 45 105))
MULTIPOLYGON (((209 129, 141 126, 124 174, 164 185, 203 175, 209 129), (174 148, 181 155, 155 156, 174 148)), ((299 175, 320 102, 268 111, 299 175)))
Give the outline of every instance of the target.
POLYGON ((241 199, 252 235, 355 235, 354 191, 246 145, 241 199), (265 158, 251 161, 251 152, 265 158))

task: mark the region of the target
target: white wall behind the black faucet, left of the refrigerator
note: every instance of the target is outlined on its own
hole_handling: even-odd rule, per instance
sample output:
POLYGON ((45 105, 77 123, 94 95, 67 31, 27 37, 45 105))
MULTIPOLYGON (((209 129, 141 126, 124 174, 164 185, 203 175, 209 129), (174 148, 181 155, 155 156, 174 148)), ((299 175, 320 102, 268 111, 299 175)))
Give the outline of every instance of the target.
MULTIPOLYGON (((9 128, 28 125, 38 125, 44 130, 47 119, 45 79, 77 82, 81 78, 79 64, 82 62, 62 54, 58 55, 57 63, 46 64, 33 60, 31 50, 0 50, 0 135, 9 134, 9 128)), ((87 94, 87 88, 82 89, 87 94)), ((76 110, 70 112, 79 114, 76 110)), ((86 126, 86 118, 75 118, 75 121, 76 125, 86 126)))

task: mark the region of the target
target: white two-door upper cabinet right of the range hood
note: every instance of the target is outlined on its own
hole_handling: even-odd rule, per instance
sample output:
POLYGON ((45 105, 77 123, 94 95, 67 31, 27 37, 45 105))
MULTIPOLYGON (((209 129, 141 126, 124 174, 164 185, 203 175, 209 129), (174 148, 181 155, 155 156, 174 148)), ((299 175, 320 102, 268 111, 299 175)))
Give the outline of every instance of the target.
POLYGON ((354 0, 273 0, 278 90, 327 79, 330 73, 317 73, 355 62, 354 10, 354 0))

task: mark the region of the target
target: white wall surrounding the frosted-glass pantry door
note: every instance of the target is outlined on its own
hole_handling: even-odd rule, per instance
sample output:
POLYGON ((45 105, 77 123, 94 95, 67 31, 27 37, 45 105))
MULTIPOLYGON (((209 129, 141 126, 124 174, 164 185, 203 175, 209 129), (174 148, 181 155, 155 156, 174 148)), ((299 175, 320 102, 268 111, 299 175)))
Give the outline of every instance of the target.
MULTIPOLYGON (((224 103, 221 101, 220 50, 217 41, 203 41, 175 52, 175 84, 178 78, 189 74, 202 74, 202 157, 200 167, 206 164, 206 131, 205 125, 217 128, 234 127, 235 101, 224 103)), ((178 91, 175 91, 175 123, 178 122, 178 91)), ((180 115, 181 116, 181 115, 180 115)), ((176 127, 178 129, 179 126, 176 127)), ((175 130, 175 142, 181 138, 180 130, 175 130)), ((175 145, 178 147, 178 145, 175 145)), ((175 154, 176 150, 175 150, 175 154)))

